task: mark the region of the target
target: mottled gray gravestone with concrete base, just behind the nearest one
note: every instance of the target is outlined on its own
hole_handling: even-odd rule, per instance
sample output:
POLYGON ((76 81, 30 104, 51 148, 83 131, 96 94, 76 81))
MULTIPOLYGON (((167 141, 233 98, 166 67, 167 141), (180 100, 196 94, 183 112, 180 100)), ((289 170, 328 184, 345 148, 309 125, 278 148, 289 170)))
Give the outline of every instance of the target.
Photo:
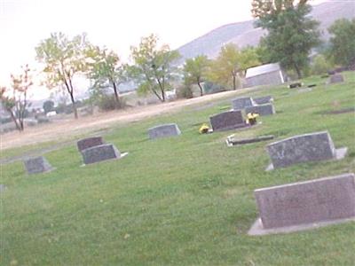
POLYGON ((335 149, 327 131, 288 137, 266 146, 272 160, 272 168, 285 168, 290 165, 319 160, 342 159, 347 148, 335 149))

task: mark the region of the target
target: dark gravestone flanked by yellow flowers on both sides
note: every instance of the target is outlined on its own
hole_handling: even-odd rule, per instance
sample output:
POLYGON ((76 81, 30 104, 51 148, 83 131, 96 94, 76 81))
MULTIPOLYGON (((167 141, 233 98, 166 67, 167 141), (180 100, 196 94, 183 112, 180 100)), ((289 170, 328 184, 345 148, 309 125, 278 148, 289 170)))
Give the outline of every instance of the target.
POLYGON ((209 117, 213 131, 222 131, 247 127, 241 110, 218 113, 209 117))

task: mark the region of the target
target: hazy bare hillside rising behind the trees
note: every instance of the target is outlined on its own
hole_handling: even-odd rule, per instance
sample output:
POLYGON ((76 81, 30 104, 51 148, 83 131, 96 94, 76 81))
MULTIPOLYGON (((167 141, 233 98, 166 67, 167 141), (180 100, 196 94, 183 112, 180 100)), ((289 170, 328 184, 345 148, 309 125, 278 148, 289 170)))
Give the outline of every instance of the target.
MULTIPOLYGON (((312 17, 320 22, 322 38, 327 40, 329 35, 327 27, 335 20, 355 18, 355 2, 353 1, 330 1, 313 6, 312 17)), ((193 58, 200 54, 205 54, 209 58, 217 56, 218 51, 225 43, 236 43, 243 47, 246 45, 256 45, 264 35, 261 28, 254 27, 254 20, 237 22, 211 30, 206 35, 194 39, 190 43, 178 48, 182 55, 181 61, 193 58)))

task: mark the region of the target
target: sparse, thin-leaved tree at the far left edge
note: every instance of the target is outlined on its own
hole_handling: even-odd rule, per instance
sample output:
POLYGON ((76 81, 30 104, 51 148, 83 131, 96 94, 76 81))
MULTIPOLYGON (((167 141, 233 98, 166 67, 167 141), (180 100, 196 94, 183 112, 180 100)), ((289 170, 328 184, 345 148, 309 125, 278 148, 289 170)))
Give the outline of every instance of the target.
POLYGON ((16 125, 16 129, 23 131, 24 118, 26 115, 28 104, 28 90, 33 85, 30 75, 31 69, 26 66, 21 66, 23 74, 11 75, 12 78, 12 95, 6 87, 0 88, 0 100, 4 108, 12 117, 12 121, 16 125))

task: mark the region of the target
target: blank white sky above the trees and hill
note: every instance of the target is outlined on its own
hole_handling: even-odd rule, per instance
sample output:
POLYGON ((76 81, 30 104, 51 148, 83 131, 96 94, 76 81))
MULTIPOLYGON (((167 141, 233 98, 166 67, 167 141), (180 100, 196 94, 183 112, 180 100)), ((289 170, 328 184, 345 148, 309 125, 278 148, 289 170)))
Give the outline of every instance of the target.
MULTIPOLYGON (((326 0, 313 0, 319 4, 326 0)), ((154 33, 170 48, 228 23, 250 20, 251 0, 0 0, 0 85, 20 66, 36 66, 36 45, 62 31, 127 60, 130 45, 154 33)))

